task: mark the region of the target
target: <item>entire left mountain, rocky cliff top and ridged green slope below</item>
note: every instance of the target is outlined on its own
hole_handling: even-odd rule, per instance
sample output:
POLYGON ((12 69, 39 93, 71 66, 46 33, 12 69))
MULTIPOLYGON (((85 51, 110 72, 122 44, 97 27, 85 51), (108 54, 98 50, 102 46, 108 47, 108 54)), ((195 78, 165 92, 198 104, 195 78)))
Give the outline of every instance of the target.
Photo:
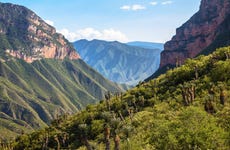
POLYGON ((121 92, 31 10, 0 3, 0 139, 121 92))

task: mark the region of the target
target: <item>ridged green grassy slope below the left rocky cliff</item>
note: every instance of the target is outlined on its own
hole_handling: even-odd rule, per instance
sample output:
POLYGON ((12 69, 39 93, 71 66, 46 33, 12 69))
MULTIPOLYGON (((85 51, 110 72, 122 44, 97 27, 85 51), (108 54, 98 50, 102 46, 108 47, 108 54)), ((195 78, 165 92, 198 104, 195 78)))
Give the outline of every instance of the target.
POLYGON ((0 139, 45 127, 95 104, 107 90, 121 91, 82 60, 0 62, 0 139))

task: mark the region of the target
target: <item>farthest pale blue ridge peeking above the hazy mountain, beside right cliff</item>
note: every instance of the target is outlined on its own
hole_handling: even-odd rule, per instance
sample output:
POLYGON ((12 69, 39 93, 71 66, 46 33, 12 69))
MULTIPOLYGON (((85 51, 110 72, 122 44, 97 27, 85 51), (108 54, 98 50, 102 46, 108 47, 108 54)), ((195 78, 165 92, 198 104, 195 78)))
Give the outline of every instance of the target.
POLYGON ((164 49, 163 43, 134 41, 134 42, 128 42, 126 44, 130 46, 137 46, 137 47, 142 47, 142 48, 147 48, 147 49, 160 49, 160 50, 164 49))

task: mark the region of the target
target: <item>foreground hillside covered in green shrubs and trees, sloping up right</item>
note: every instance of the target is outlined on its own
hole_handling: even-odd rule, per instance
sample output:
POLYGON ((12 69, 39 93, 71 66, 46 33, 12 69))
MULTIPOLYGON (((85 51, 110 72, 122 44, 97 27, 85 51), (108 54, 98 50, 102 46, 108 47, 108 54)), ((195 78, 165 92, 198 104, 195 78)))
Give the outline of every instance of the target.
MULTIPOLYGON (((221 149, 230 147, 230 47, 189 59, 97 105, 19 136, 20 149, 221 149)), ((4 144, 3 144, 4 145, 4 144)))

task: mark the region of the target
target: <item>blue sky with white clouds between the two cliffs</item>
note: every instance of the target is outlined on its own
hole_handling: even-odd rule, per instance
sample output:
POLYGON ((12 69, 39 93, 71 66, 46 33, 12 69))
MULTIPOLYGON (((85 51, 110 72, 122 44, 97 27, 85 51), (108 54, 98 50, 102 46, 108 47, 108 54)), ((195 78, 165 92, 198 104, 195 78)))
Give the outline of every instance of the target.
POLYGON ((23 5, 69 41, 169 41, 201 0, 0 0, 23 5))

